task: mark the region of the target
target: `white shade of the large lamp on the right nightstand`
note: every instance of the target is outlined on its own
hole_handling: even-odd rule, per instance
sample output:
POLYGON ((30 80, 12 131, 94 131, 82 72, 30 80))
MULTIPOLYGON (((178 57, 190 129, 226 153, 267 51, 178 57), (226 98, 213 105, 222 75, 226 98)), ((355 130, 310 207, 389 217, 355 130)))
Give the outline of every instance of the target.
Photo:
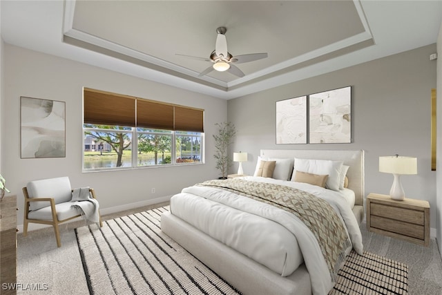
POLYGON ((403 156, 379 157, 379 171, 392 174, 417 174, 417 158, 403 156))

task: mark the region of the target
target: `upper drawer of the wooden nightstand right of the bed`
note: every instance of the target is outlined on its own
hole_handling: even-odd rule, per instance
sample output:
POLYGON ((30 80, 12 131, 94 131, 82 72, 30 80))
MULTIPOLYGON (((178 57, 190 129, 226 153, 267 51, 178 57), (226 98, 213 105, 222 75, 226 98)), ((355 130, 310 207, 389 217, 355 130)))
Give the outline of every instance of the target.
POLYGON ((410 210, 405 208, 388 206, 385 204, 377 204, 372 202, 370 207, 372 216, 381 216, 394 220, 423 225, 425 216, 423 211, 410 210))

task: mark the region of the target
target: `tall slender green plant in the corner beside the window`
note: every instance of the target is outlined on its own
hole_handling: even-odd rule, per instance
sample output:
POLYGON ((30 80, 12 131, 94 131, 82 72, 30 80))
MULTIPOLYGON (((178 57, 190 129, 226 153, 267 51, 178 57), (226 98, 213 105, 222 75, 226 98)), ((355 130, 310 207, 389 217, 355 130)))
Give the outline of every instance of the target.
POLYGON ((227 179, 227 172, 232 165, 229 146, 236 135, 236 129, 231 122, 216 123, 215 126, 218 126, 218 133, 213 135, 216 149, 213 158, 216 159, 216 169, 221 172, 220 179, 227 179))

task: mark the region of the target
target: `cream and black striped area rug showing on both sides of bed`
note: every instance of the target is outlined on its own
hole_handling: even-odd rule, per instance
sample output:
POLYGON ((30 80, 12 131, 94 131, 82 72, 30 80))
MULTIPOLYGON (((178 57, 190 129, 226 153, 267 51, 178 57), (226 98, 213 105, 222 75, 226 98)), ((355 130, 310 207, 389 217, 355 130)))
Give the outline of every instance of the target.
MULTIPOLYGON (((169 207, 75 229, 90 294, 241 294, 160 228, 169 207)), ((350 254, 330 294, 407 294, 407 266, 350 254)))

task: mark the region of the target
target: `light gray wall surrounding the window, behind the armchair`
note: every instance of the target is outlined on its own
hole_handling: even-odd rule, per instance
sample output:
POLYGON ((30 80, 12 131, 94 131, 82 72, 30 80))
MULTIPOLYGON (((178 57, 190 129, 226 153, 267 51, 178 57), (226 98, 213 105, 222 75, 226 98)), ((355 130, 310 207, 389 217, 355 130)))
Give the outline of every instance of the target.
POLYGON ((69 176, 73 187, 93 187, 102 213, 164 200, 196 182, 218 178, 213 153, 215 123, 227 120, 227 101, 149 82, 76 61, 3 46, 1 173, 17 194, 23 224, 23 193, 30 180, 69 176), (81 172, 82 87, 133 95, 205 110, 206 164, 124 171, 81 172), (20 158, 20 96, 66 102, 66 158, 20 158), (151 189, 155 188, 155 193, 151 189))

